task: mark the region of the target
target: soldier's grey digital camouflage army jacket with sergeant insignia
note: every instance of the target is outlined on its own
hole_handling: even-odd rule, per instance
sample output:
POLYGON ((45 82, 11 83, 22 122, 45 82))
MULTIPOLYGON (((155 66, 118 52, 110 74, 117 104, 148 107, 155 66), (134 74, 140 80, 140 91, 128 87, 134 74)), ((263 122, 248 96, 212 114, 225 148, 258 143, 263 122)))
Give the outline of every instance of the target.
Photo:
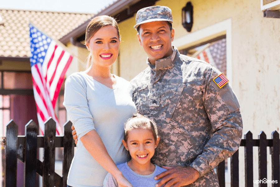
POLYGON ((191 166, 200 177, 188 186, 218 186, 213 168, 230 157, 242 136, 240 105, 230 84, 213 81, 212 65, 173 54, 157 60, 130 81, 142 115, 153 119, 160 136, 152 162, 159 166, 191 166))

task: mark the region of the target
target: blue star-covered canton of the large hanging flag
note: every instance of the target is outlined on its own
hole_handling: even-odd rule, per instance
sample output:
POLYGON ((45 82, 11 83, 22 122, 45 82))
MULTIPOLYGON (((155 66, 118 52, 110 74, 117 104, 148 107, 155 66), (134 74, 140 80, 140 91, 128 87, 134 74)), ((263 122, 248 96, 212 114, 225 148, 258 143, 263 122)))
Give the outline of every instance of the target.
POLYGON ((49 44, 52 41, 48 36, 44 35, 41 31, 35 28, 31 23, 30 28, 30 64, 31 66, 44 62, 49 44))

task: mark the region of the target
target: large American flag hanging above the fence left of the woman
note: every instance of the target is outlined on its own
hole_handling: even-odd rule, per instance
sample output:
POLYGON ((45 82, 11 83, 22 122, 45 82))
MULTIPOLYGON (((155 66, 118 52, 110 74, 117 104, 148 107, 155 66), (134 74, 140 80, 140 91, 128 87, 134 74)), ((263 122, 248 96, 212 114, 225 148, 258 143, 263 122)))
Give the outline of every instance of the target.
POLYGON ((44 122, 52 117, 56 122, 56 132, 60 135, 62 130, 54 108, 73 56, 31 23, 29 27, 30 64, 39 126, 44 133, 44 122))

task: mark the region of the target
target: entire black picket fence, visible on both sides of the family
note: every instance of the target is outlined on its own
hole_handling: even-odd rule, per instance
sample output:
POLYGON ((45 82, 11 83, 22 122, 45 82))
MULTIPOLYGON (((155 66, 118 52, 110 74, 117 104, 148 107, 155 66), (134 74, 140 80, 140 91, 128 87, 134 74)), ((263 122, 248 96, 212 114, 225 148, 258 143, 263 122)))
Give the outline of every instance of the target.
MULTIPOLYGON (((37 136, 38 126, 32 120, 25 126, 25 136, 18 136, 18 126, 12 120, 6 128, 5 154, 5 186, 16 187, 17 159, 24 163, 24 186, 35 186, 36 173, 42 176, 44 187, 66 187, 67 175, 74 156, 74 140, 72 138, 72 123, 64 124, 64 136, 55 136, 56 126, 53 119, 45 122, 44 136, 37 136), (44 148, 44 161, 36 158, 37 148, 44 148), (63 147, 62 177, 54 172, 55 147, 63 147)), ((280 185, 280 146, 279 133, 274 131, 271 139, 267 139, 264 132, 258 139, 253 139, 249 131, 241 140, 240 147, 245 148, 245 186, 253 187, 253 146, 259 148, 259 180, 267 179, 267 147, 272 158, 272 187, 280 185)), ((231 156, 231 187, 239 186, 238 151, 231 156)), ((217 166, 220 187, 225 186, 225 161, 217 166)), ((242 185, 243 186, 243 185, 242 185)), ((259 187, 266 187, 267 183, 260 183, 259 187)))

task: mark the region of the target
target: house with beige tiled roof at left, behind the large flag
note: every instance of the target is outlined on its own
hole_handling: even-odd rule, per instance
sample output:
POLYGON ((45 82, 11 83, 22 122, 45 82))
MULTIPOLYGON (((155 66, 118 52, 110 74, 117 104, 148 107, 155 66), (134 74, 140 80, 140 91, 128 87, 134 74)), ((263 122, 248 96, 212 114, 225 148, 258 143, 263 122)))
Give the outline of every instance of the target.
MULTIPOLYGON (((91 14, 67 12, 42 12, 24 10, 0 10, 0 136, 13 119, 19 127, 18 134, 25 134, 25 125, 31 119, 38 124, 30 67, 29 22, 52 39, 58 40, 91 14)), ((58 98, 56 112, 62 126, 66 122, 66 110, 62 105, 64 88, 58 98)), ((3 146, 1 146, 3 154, 3 146)), ((57 159, 60 159, 57 150, 57 159)), ((2 157, 2 156, 1 156, 2 157)), ((0 159, 2 174, 4 163, 0 159)), ((18 162, 17 186, 23 186, 23 164, 18 162)), ((58 172, 59 173, 59 172, 58 172)), ((3 185, 2 177, 0 183, 3 185)))

